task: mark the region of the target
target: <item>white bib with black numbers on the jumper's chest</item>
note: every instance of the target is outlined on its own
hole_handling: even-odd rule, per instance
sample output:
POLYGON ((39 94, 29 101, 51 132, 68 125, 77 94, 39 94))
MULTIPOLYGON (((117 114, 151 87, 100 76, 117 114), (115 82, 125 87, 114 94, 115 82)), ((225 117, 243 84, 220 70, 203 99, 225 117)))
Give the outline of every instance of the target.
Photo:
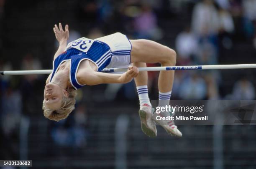
POLYGON ((68 48, 76 48, 76 49, 81 50, 83 52, 87 52, 90 49, 90 47, 92 46, 92 43, 94 41, 95 40, 92 40, 92 39, 79 38, 77 40, 74 40, 74 41, 70 42, 67 45, 67 49, 68 48))

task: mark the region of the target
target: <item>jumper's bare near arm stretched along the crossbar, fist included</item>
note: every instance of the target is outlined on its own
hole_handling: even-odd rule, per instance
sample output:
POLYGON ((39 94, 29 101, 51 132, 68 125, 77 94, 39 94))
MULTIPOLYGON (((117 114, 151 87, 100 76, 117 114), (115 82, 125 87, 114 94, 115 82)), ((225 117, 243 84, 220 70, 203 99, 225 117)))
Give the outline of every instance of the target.
POLYGON ((102 84, 102 83, 128 83, 133 78, 138 76, 138 68, 129 66, 128 71, 123 74, 112 74, 92 71, 87 73, 86 76, 79 78, 82 85, 86 84, 89 86, 102 84))

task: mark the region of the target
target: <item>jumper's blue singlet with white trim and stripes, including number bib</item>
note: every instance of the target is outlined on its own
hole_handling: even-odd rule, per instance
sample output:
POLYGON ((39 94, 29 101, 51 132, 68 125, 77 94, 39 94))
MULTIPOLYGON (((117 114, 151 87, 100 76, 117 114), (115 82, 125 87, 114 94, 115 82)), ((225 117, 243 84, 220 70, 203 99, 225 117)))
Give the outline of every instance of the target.
POLYGON ((69 79, 72 86, 77 90, 77 88, 84 86, 78 83, 76 77, 81 61, 85 59, 90 60, 97 66, 97 71, 101 71, 108 66, 111 57, 110 47, 104 42, 88 38, 74 40, 67 45, 66 51, 54 60, 50 82, 61 63, 70 61, 69 79))

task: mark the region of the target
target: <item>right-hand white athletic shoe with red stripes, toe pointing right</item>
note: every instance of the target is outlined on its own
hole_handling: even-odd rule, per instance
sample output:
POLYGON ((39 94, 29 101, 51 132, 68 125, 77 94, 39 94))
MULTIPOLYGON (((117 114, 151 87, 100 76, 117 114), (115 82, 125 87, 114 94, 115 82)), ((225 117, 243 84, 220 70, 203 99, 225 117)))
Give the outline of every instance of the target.
MULTIPOLYGON (((168 113, 168 115, 170 116, 170 113, 169 112, 166 112, 168 113)), ((160 126, 162 126, 165 131, 172 135, 172 136, 177 136, 177 137, 181 137, 182 136, 182 133, 179 131, 179 129, 177 128, 177 126, 174 124, 174 121, 166 121, 166 120, 156 120, 156 117, 157 116, 161 116, 161 117, 166 117, 167 114, 166 113, 160 113, 160 114, 157 114, 157 113, 154 113, 153 116, 152 116, 152 119, 157 123, 159 124, 160 126)))

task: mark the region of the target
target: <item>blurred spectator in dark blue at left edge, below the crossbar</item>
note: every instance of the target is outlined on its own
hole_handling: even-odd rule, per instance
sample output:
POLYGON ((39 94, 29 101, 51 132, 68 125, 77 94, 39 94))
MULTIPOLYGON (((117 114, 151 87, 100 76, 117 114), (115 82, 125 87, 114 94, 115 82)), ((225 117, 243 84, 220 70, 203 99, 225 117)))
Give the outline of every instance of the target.
POLYGON ((10 83, 3 91, 0 100, 0 146, 2 158, 16 159, 18 154, 18 129, 21 116, 21 96, 18 90, 13 90, 10 83))

